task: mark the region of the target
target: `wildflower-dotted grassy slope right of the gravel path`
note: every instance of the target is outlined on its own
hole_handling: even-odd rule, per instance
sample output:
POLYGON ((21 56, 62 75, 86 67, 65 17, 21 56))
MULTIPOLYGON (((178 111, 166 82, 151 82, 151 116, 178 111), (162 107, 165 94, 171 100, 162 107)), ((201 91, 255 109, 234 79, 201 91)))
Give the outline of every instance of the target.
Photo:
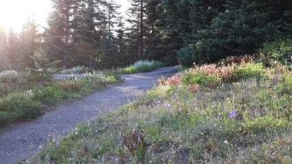
POLYGON ((292 74, 204 65, 82 122, 30 163, 291 163, 292 74))

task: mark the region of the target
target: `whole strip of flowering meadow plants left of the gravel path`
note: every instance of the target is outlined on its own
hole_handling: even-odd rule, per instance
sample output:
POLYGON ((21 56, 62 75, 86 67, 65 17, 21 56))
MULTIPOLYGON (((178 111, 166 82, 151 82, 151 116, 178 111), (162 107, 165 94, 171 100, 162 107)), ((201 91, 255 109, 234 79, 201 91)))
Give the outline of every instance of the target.
POLYGON ((42 78, 29 72, 18 74, 14 70, 0 73, 0 127, 36 118, 59 102, 121 81, 120 76, 114 72, 85 73, 83 78, 55 80, 51 77, 46 81, 36 79, 42 78))

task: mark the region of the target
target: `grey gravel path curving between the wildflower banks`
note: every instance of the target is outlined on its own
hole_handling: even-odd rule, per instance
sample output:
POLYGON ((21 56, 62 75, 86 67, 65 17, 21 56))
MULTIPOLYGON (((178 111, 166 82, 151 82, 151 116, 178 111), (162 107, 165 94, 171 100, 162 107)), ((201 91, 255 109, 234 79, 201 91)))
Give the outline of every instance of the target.
POLYGON ((129 99, 144 94, 161 75, 169 77, 174 70, 176 68, 166 67, 147 73, 122 75, 125 80, 121 85, 56 107, 37 120, 4 129, 0 132, 0 163, 29 159, 47 143, 50 135, 62 137, 75 128, 77 122, 118 109, 129 99))

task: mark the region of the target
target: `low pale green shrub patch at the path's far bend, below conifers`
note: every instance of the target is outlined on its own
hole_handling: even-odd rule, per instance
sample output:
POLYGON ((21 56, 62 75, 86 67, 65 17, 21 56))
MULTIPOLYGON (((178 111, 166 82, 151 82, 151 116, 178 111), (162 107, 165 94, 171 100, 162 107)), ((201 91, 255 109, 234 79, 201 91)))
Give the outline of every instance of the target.
POLYGON ((163 67, 161 61, 140 60, 135 64, 128 66, 127 68, 121 68, 119 72, 121 74, 131 74, 137 72, 150 72, 156 68, 163 67))

